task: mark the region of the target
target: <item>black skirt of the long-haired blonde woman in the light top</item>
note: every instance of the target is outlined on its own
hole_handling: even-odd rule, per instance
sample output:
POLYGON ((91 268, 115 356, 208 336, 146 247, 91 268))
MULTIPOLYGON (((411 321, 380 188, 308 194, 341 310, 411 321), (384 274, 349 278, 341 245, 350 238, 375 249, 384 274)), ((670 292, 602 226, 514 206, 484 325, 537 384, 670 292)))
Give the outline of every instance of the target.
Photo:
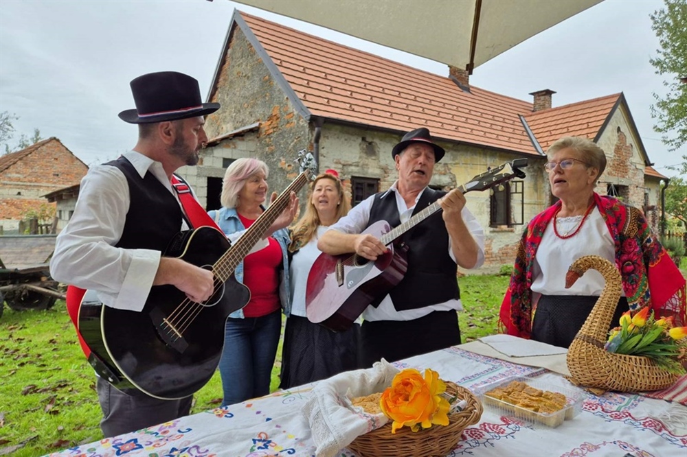
POLYGON ((302 316, 290 316, 284 328, 280 388, 319 381, 359 368, 360 325, 334 332, 302 316))

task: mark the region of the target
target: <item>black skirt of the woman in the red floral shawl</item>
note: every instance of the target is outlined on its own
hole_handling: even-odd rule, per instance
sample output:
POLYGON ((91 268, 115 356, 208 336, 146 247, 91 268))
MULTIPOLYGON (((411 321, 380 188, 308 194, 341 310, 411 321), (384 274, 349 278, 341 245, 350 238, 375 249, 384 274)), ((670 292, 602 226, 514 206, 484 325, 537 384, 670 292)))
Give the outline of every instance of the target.
MULTIPOLYGON (((532 340, 570 347, 597 300, 598 296, 542 295, 534 312, 532 340)), ((620 297, 609 330, 620 325, 620 316, 629 309, 627 298, 620 297)))

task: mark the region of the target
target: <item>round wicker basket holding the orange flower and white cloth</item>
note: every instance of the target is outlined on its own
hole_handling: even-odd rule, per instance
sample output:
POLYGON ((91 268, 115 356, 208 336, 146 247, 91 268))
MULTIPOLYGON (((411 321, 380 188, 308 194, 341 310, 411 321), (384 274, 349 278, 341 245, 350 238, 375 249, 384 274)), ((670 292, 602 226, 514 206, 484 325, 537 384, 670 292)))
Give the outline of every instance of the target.
POLYGON ((480 421, 482 403, 470 390, 446 382, 446 391, 468 402, 461 412, 449 414, 449 425, 432 425, 413 432, 409 427, 391 432, 391 422, 358 436, 348 445, 360 457, 439 457, 446 456, 460 441, 465 427, 480 421))

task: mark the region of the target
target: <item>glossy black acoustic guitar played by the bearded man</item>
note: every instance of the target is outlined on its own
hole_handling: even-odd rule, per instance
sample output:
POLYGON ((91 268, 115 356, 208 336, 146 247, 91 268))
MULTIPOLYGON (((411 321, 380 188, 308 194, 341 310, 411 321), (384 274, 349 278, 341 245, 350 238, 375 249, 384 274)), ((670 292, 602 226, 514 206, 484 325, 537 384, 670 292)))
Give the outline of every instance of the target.
POLYGON ((221 231, 203 226, 172 239, 165 257, 178 257, 214 273, 215 290, 204 303, 172 285, 154 286, 142 312, 104 306, 89 291, 78 314, 91 348, 89 362, 115 388, 159 399, 188 397, 214 374, 224 347, 227 317, 243 308, 250 292, 234 277, 236 266, 264 237, 315 167, 301 152, 302 173, 232 245, 221 231))

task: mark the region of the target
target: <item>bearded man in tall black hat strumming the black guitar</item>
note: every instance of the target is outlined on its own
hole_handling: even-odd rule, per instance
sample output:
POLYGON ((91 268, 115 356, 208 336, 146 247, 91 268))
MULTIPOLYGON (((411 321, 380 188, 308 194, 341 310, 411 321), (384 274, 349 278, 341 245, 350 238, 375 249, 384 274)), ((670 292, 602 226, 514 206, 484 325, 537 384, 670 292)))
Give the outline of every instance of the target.
MULTIPOLYGON (((150 288, 166 284, 201 303, 214 290, 212 272, 162 253, 175 234, 191 228, 172 174, 198 163, 207 143, 204 116, 220 106, 201 102, 198 82, 174 71, 139 76, 131 91, 136 108, 119 116, 138 124, 137 144, 89 169, 74 215, 57 237, 50 271, 57 281, 98 292, 104 305, 117 309, 140 312, 150 288)), ((291 200, 271 229, 293 220, 295 194, 291 200)), ((177 419, 189 413, 192 401, 126 395, 102 377, 97 390, 106 437, 177 419)))

